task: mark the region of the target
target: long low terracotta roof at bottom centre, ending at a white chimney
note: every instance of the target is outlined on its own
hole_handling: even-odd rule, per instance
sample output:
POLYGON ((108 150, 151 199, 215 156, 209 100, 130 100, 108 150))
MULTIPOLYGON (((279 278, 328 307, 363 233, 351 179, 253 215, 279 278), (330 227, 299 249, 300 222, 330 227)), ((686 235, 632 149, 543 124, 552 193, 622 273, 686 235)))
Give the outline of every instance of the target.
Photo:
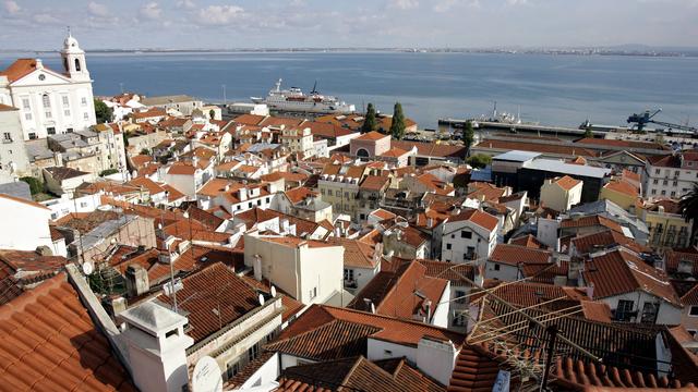
POLYGON ((452 341, 460 347, 465 335, 417 321, 359 310, 312 305, 288 326, 267 350, 314 360, 366 355, 366 339, 417 346, 422 338, 452 341))

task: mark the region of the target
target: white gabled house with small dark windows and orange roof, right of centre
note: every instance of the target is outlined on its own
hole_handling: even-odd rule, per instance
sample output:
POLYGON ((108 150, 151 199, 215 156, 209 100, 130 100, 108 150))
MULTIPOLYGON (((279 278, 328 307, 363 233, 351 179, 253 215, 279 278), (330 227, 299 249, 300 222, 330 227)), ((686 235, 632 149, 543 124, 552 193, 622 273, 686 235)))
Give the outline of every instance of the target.
POLYGON ((466 262, 489 257, 497 243, 496 217, 468 209, 448 217, 444 223, 441 255, 444 261, 466 262))

